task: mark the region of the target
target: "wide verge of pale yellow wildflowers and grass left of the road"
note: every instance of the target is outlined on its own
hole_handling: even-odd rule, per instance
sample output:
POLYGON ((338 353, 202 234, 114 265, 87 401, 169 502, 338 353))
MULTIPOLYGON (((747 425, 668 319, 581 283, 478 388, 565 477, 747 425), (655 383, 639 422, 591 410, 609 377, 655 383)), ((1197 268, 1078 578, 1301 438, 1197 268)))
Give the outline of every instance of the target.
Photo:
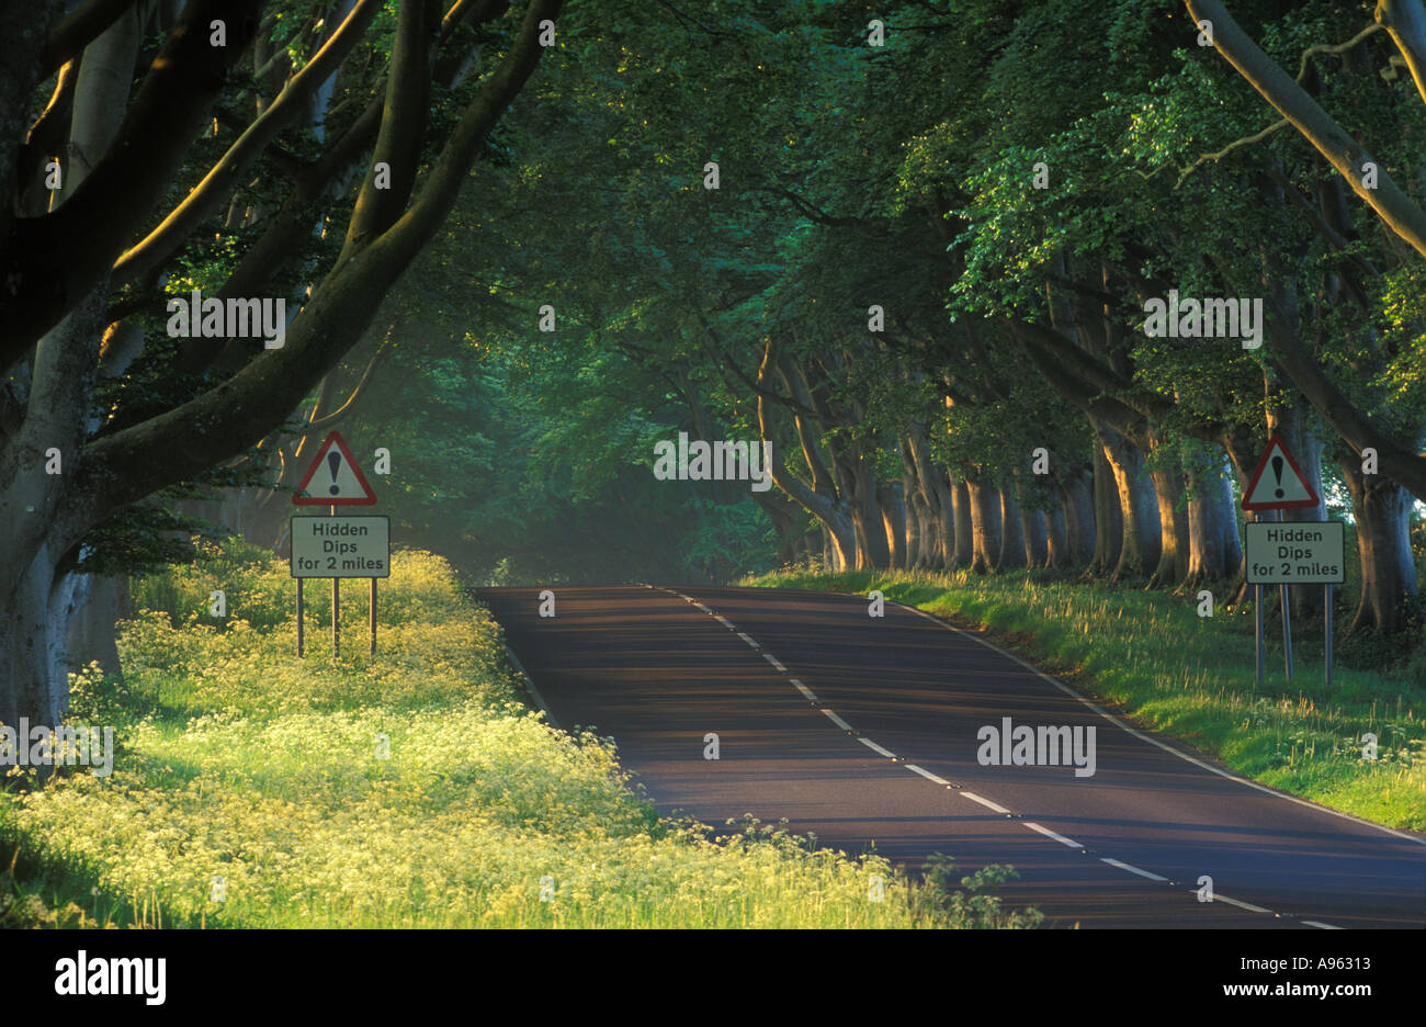
POLYGON ((237 543, 134 583, 124 685, 97 666, 73 682, 70 720, 117 729, 113 775, 41 787, 11 769, 0 786, 0 924, 1037 923, 1000 907, 995 869, 924 884, 776 824, 660 819, 609 739, 522 702, 498 625, 436 556, 395 555, 375 659, 361 586, 342 603, 352 655, 332 660, 329 589, 311 588, 298 659, 292 591, 237 543))

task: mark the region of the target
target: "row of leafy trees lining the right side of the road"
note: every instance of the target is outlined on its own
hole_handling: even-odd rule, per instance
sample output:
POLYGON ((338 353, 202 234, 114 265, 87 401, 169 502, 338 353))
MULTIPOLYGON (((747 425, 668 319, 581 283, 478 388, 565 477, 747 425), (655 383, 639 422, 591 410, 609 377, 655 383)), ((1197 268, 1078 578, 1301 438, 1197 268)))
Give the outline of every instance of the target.
POLYGON ((548 81, 520 133, 556 145, 485 225, 528 258, 476 277, 525 318, 473 337, 529 395, 633 397, 639 459, 771 439, 747 501, 781 559, 1229 595, 1275 432, 1346 492, 1352 628, 1409 628, 1419 3, 613 7, 627 36, 548 81), (1171 291, 1261 300, 1261 348, 1148 335, 1171 291))

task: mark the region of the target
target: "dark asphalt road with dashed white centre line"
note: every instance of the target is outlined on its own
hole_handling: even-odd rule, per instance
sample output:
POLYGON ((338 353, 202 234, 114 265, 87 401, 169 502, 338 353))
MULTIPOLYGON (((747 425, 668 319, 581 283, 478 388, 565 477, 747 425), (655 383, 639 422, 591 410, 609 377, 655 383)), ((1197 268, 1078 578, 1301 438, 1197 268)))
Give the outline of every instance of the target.
POLYGON ((1047 926, 1426 926, 1426 836, 1226 775, 928 615, 773 589, 555 595, 540 618, 539 589, 479 592, 553 720, 612 735, 662 812, 786 817, 910 867, 1010 863, 998 893, 1047 926), (978 732, 1004 717, 1095 727, 1095 773, 981 766, 978 732))

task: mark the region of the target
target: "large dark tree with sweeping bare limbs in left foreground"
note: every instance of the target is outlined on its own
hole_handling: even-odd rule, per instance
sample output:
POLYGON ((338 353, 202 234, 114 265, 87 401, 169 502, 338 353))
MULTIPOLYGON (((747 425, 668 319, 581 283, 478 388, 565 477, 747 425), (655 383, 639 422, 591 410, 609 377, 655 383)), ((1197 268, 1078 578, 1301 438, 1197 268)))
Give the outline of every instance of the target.
POLYGON ((0 13, 0 720, 57 723, 66 707, 57 655, 91 532, 242 454, 302 404, 439 228, 542 54, 559 48, 560 0, 392 7, 90 0, 64 19, 53 3, 0 13), (163 34, 157 53, 144 30, 163 34), (257 74, 240 76, 257 54, 257 74), (432 90, 472 61, 478 71, 432 114, 432 90), (332 90, 321 138, 289 151, 282 130, 332 90), (197 167, 210 137, 217 157, 197 167), (60 190, 44 178, 56 158, 60 190), (235 334, 134 339, 190 248, 231 224, 222 208, 260 158, 288 175, 285 200, 228 234, 235 260, 218 298, 282 297, 279 272, 314 224, 342 240, 299 271, 312 284, 281 348, 235 334), (96 409, 100 375, 155 359, 191 387, 96 409))

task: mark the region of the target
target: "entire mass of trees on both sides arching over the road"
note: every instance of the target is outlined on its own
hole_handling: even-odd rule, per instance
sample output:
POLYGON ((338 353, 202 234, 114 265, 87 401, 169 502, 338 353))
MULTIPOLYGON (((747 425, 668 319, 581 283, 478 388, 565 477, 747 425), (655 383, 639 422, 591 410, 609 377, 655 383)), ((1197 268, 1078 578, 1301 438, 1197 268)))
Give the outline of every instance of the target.
POLYGON ((766 525, 1162 588, 1241 582, 1275 431, 1348 492, 1353 628, 1407 628, 1420 0, 560 7, 0 14, 0 720, 58 716, 70 622, 198 486, 260 482, 220 519, 279 543, 335 425, 412 528, 575 561, 575 518, 630 576, 683 519, 709 573, 766 525), (170 338, 194 288, 285 298, 285 345, 170 338), (1148 335, 1174 290, 1261 298, 1263 345, 1148 335), (667 499, 679 428, 770 439, 777 488, 667 499))

